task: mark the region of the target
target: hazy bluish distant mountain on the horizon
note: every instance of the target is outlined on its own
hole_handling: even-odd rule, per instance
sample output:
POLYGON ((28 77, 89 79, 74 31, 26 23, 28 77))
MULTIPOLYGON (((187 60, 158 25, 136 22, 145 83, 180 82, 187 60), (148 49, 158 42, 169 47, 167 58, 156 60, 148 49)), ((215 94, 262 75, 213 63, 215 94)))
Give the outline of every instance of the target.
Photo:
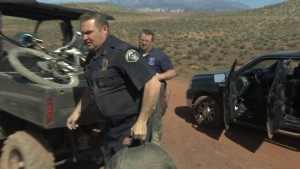
POLYGON ((145 11, 240 11, 250 7, 227 0, 107 0, 125 8, 145 11))

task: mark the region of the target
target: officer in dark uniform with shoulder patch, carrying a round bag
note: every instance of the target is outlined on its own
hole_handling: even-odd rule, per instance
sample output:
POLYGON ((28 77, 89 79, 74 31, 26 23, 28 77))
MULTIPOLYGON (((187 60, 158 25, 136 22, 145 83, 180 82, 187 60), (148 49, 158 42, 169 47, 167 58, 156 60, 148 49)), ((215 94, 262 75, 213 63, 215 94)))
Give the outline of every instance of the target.
POLYGON ((132 45, 109 34, 104 15, 88 12, 79 21, 84 44, 90 50, 85 63, 89 87, 68 118, 67 127, 76 129, 80 112, 94 100, 107 117, 102 149, 107 164, 113 154, 125 147, 123 141, 128 136, 133 136, 133 146, 148 141, 148 120, 160 82, 132 45))

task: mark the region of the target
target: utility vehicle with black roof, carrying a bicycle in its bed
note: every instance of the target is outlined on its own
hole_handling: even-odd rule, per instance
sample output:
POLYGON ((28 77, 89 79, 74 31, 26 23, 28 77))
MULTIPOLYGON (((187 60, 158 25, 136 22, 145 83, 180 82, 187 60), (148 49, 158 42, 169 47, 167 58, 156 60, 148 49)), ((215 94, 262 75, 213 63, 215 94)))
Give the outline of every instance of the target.
MULTIPOLYGON (((35 0, 0 0, 0 11, 0 143, 3 143, 0 168, 54 169, 69 160, 97 161, 101 157, 99 134, 105 119, 96 106, 93 104, 83 112, 78 130, 66 128, 66 120, 86 87, 82 76, 78 76, 78 84, 73 86, 41 85, 16 71, 8 58, 16 48, 38 50, 24 42, 28 36, 41 39, 38 30, 48 21, 52 26, 60 25, 60 35, 63 35, 63 38, 54 37, 56 41, 53 42, 59 43, 60 47, 69 44, 74 36, 71 21, 87 10, 35 0), (11 33, 20 26, 24 27, 21 30, 28 29, 30 23, 36 23, 32 32, 11 33)), ((54 36, 52 30, 47 33, 54 36)), ((31 52, 25 55, 32 58, 31 52)), ((22 63, 26 56, 22 57, 22 63)), ((27 61, 28 64, 43 65, 34 59, 27 61)))

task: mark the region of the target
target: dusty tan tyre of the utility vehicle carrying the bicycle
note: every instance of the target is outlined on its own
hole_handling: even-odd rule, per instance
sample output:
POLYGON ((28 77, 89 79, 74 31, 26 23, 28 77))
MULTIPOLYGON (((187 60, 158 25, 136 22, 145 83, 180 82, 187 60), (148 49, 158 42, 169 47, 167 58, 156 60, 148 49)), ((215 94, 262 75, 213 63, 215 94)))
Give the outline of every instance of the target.
POLYGON ((0 168, 54 169, 54 157, 40 141, 24 131, 10 135, 2 148, 0 168))

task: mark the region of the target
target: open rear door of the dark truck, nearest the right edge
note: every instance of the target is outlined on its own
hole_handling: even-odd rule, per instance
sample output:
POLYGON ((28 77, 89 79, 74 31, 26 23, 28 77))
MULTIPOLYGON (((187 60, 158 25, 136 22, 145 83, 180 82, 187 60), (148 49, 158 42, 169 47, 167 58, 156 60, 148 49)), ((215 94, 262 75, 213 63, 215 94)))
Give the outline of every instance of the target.
POLYGON ((286 116, 285 78, 291 59, 279 60, 275 71, 275 78, 268 95, 267 131, 271 139, 276 130, 282 127, 286 116))

